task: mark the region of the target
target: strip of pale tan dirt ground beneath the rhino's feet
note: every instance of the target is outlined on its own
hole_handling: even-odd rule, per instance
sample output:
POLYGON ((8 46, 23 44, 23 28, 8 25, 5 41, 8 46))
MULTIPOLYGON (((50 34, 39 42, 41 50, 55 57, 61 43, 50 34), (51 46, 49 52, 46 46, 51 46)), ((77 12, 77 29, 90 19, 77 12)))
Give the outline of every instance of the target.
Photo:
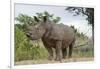
MULTIPOLYGON (((93 57, 86 57, 86 58, 70 58, 70 59, 63 59, 62 63, 67 63, 67 62, 82 62, 82 61, 93 61, 93 57)), ((15 65, 32 65, 32 64, 49 64, 49 63, 60 63, 59 61, 50 61, 50 60, 24 60, 24 61, 19 61, 15 62, 15 65)))

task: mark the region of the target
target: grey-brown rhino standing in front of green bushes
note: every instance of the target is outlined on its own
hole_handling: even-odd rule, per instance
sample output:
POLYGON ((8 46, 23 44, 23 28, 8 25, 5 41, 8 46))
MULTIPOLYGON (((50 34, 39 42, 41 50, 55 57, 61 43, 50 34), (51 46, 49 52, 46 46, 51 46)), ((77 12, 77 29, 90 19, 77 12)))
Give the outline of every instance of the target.
POLYGON ((31 40, 41 38, 44 47, 49 53, 49 60, 62 61, 67 56, 67 48, 69 48, 68 57, 72 57, 72 50, 75 43, 74 30, 67 25, 56 24, 48 20, 46 16, 43 17, 42 21, 35 16, 34 19, 39 25, 37 27, 28 26, 26 36, 31 40), (56 54, 55 58, 54 52, 56 54))

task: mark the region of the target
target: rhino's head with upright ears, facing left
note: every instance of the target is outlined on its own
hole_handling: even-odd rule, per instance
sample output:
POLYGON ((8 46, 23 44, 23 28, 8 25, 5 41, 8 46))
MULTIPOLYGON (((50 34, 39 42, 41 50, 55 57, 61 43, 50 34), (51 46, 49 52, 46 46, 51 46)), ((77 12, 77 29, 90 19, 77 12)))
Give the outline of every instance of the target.
POLYGON ((31 40, 37 40, 42 38, 44 33, 46 32, 46 29, 44 27, 44 24, 46 23, 46 16, 43 17, 43 20, 40 21, 37 17, 34 17, 35 21, 38 22, 39 25, 37 26, 27 26, 26 29, 26 36, 31 40))

